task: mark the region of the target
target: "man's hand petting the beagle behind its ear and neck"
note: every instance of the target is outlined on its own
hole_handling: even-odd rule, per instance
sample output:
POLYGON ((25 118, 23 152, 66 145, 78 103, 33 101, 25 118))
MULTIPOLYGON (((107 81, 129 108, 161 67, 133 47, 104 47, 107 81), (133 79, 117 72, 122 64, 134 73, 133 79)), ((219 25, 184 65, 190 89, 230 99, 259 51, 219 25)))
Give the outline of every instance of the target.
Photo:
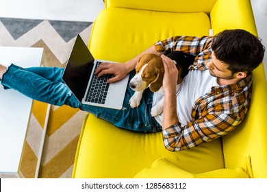
POLYGON ((162 55, 162 62, 164 64, 164 77, 163 77, 163 88, 165 95, 174 94, 176 95, 176 85, 178 80, 178 69, 175 62, 162 55))

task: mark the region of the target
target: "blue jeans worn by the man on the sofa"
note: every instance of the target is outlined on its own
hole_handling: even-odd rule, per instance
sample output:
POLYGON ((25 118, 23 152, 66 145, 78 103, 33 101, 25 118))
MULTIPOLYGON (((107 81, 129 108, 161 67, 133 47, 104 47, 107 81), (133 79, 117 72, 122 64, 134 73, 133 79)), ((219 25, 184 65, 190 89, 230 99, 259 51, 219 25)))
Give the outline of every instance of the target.
MULTIPOLYGON (((31 67, 23 69, 12 64, 1 80, 4 88, 12 88, 31 99, 55 106, 68 105, 90 112, 118 128, 137 132, 159 132, 162 126, 151 117, 153 93, 144 91, 140 106, 131 108, 129 99, 134 91, 127 87, 122 110, 81 104, 62 81, 64 69, 58 67, 31 67)), ((133 77, 134 71, 130 74, 133 77)))

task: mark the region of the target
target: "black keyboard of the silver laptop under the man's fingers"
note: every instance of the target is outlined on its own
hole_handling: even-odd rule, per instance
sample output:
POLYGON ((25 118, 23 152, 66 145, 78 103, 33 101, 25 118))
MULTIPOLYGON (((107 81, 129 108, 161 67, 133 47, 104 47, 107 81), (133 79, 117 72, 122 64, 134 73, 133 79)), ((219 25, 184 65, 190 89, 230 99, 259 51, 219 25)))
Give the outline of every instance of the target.
MULTIPOLYGON (((101 64, 101 62, 97 62, 97 67, 99 67, 99 64, 101 64)), ((106 74, 101 77, 94 75, 88 89, 86 101, 95 104, 105 104, 107 90, 110 86, 110 84, 107 83, 107 80, 110 77, 112 77, 112 74, 106 74)))

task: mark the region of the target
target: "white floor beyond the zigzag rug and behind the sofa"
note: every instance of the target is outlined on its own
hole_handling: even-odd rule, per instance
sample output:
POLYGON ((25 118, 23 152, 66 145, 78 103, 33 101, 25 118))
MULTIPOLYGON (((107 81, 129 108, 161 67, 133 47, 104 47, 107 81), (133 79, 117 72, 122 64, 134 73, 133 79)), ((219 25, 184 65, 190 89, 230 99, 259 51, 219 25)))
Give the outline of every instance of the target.
MULTIPOLYGON (((262 12, 259 12, 257 9, 258 1, 264 0, 251 0, 251 4, 259 38, 262 39, 262 43, 267 47, 267 13, 262 14, 262 12)), ((1 0, 0 17, 94 21, 103 8, 103 0, 1 0)), ((267 79, 267 56, 264 57, 264 69, 267 79)))

